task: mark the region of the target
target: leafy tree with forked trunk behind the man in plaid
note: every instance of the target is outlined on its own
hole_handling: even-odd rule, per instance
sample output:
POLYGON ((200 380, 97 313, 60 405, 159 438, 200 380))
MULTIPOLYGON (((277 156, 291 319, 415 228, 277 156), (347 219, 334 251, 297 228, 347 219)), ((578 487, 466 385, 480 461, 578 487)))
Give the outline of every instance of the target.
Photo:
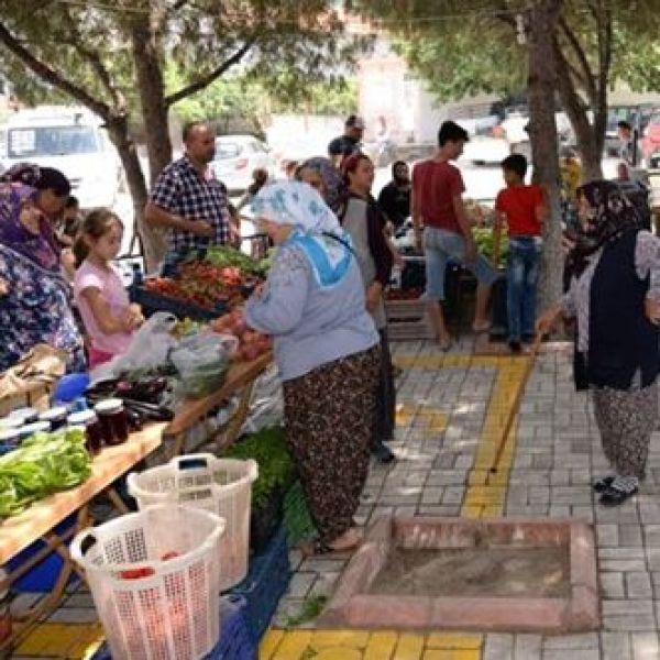
MULTIPOLYGON (((362 41, 343 35, 331 0, 3 0, 0 15, 0 62, 10 80, 21 89, 46 85, 105 120, 136 217, 146 183, 129 132, 132 116, 146 127, 154 178, 172 158, 175 103, 229 72, 299 98, 307 81, 346 70, 362 41), (178 74, 174 88, 165 81, 169 62, 178 74)), ((145 241, 155 245, 156 238, 145 241)), ((153 253, 162 250, 160 241, 153 253)))

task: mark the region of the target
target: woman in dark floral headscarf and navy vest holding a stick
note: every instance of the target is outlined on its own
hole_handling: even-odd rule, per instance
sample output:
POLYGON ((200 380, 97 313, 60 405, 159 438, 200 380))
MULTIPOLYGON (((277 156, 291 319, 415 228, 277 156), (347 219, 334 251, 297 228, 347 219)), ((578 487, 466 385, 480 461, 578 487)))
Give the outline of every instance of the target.
POLYGON ((578 189, 580 233, 566 262, 570 288, 542 315, 539 332, 563 315, 578 319, 574 377, 593 394, 603 451, 613 474, 594 484, 617 505, 645 477, 658 418, 660 241, 615 182, 578 189))

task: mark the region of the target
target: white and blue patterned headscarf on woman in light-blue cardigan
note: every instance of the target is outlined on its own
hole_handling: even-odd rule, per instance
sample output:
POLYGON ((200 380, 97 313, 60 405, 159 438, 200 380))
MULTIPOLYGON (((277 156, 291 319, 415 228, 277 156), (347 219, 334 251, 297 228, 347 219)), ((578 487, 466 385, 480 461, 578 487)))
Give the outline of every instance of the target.
POLYGON ((254 217, 295 229, 286 244, 302 250, 319 286, 326 288, 343 279, 353 257, 351 239, 321 196, 300 182, 278 182, 264 186, 252 200, 254 217))

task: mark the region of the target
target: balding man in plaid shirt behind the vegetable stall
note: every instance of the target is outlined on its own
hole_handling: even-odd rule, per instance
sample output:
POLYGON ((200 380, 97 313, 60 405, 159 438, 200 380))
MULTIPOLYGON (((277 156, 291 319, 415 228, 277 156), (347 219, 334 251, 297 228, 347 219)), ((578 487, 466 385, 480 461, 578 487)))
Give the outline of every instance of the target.
POLYGON ((144 209, 147 222, 170 230, 166 264, 188 250, 232 243, 240 237, 226 188, 208 166, 216 155, 213 131, 204 122, 186 124, 184 145, 184 156, 158 175, 144 209))

